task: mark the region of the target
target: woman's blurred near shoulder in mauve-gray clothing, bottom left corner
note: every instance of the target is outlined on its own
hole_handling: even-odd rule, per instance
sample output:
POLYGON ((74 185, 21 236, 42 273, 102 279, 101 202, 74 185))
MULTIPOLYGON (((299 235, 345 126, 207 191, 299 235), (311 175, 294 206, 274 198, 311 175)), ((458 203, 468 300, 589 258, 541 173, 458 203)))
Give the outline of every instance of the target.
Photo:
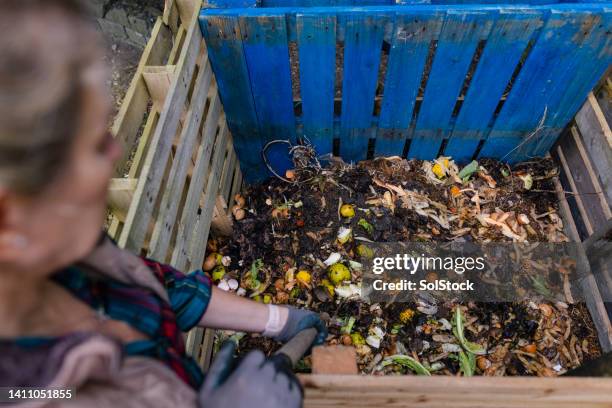
POLYGON ((100 334, 3 340, 0 356, 3 386, 74 390, 61 406, 196 406, 195 391, 163 363, 124 356, 121 344, 100 334))

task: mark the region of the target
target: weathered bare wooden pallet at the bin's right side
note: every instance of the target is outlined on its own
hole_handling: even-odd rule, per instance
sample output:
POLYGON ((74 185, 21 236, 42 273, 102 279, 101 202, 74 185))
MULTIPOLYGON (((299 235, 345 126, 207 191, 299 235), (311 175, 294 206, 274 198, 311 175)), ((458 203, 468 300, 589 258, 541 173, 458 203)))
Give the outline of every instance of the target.
MULTIPOLYGON (((609 83, 606 78, 602 86, 609 86, 609 83)), ((612 132, 594 92, 589 93, 551 154, 562 169, 561 186, 565 192, 562 198, 568 212, 566 219, 571 220, 573 230, 570 236, 576 241, 585 241, 594 275, 593 290, 598 292, 594 297, 600 296, 604 301, 602 312, 607 316, 599 319, 600 341, 604 344, 607 330, 609 343, 612 338, 612 265, 609 257, 612 254, 611 244, 603 240, 607 235, 609 241, 612 234, 612 132), (600 248, 595 250, 598 241, 600 248)), ((597 319, 594 320, 597 323, 597 319)))

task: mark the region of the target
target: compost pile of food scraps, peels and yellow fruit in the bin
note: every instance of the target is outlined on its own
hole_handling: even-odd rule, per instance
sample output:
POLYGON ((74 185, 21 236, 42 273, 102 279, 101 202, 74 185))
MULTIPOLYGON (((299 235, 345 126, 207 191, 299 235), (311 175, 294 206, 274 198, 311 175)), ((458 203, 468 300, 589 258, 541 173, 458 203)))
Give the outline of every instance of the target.
MULTIPOLYGON (((571 293, 557 301, 368 304, 357 262, 371 242, 568 241, 556 175, 547 159, 460 168, 447 157, 393 157, 297 168, 235 197, 233 235, 209 240, 204 268, 224 290, 320 313, 327 344, 355 347, 364 374, 560 375, 601 353, 571 293)), ((243 333, 218 340, 229 336, 240 353, 279 347, 243 333)))

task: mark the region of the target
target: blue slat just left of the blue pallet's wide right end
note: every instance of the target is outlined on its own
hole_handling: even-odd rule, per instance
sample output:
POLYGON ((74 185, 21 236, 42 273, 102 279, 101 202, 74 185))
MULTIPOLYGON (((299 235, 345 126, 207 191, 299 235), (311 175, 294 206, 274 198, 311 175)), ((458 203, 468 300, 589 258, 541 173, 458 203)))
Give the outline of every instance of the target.
POLYGON ((542 14, 537 10, 500 11, 444 155, 452 156, 460 163, 471 160, 523 51, 534 31, 542 25, 541 18, 542 14))

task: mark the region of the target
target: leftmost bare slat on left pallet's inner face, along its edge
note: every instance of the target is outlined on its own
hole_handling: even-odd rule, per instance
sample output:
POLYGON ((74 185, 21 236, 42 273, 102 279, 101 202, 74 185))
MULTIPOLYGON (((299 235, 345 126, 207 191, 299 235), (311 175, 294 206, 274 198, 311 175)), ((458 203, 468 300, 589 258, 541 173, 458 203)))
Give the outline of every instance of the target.
POLYGON ((130 208, 119 237, 118 244, 124 248, 131 250, 141 248, 157 201, 164 173, 164 168, 160 164, 165 163, 170 154, 200 50, 201 34, 195 17, 194 14, 175 79, 168 91, 159 125, 153 134, 151 147, 145 158, 134 196, 138 200, 137 205, 130 208))

